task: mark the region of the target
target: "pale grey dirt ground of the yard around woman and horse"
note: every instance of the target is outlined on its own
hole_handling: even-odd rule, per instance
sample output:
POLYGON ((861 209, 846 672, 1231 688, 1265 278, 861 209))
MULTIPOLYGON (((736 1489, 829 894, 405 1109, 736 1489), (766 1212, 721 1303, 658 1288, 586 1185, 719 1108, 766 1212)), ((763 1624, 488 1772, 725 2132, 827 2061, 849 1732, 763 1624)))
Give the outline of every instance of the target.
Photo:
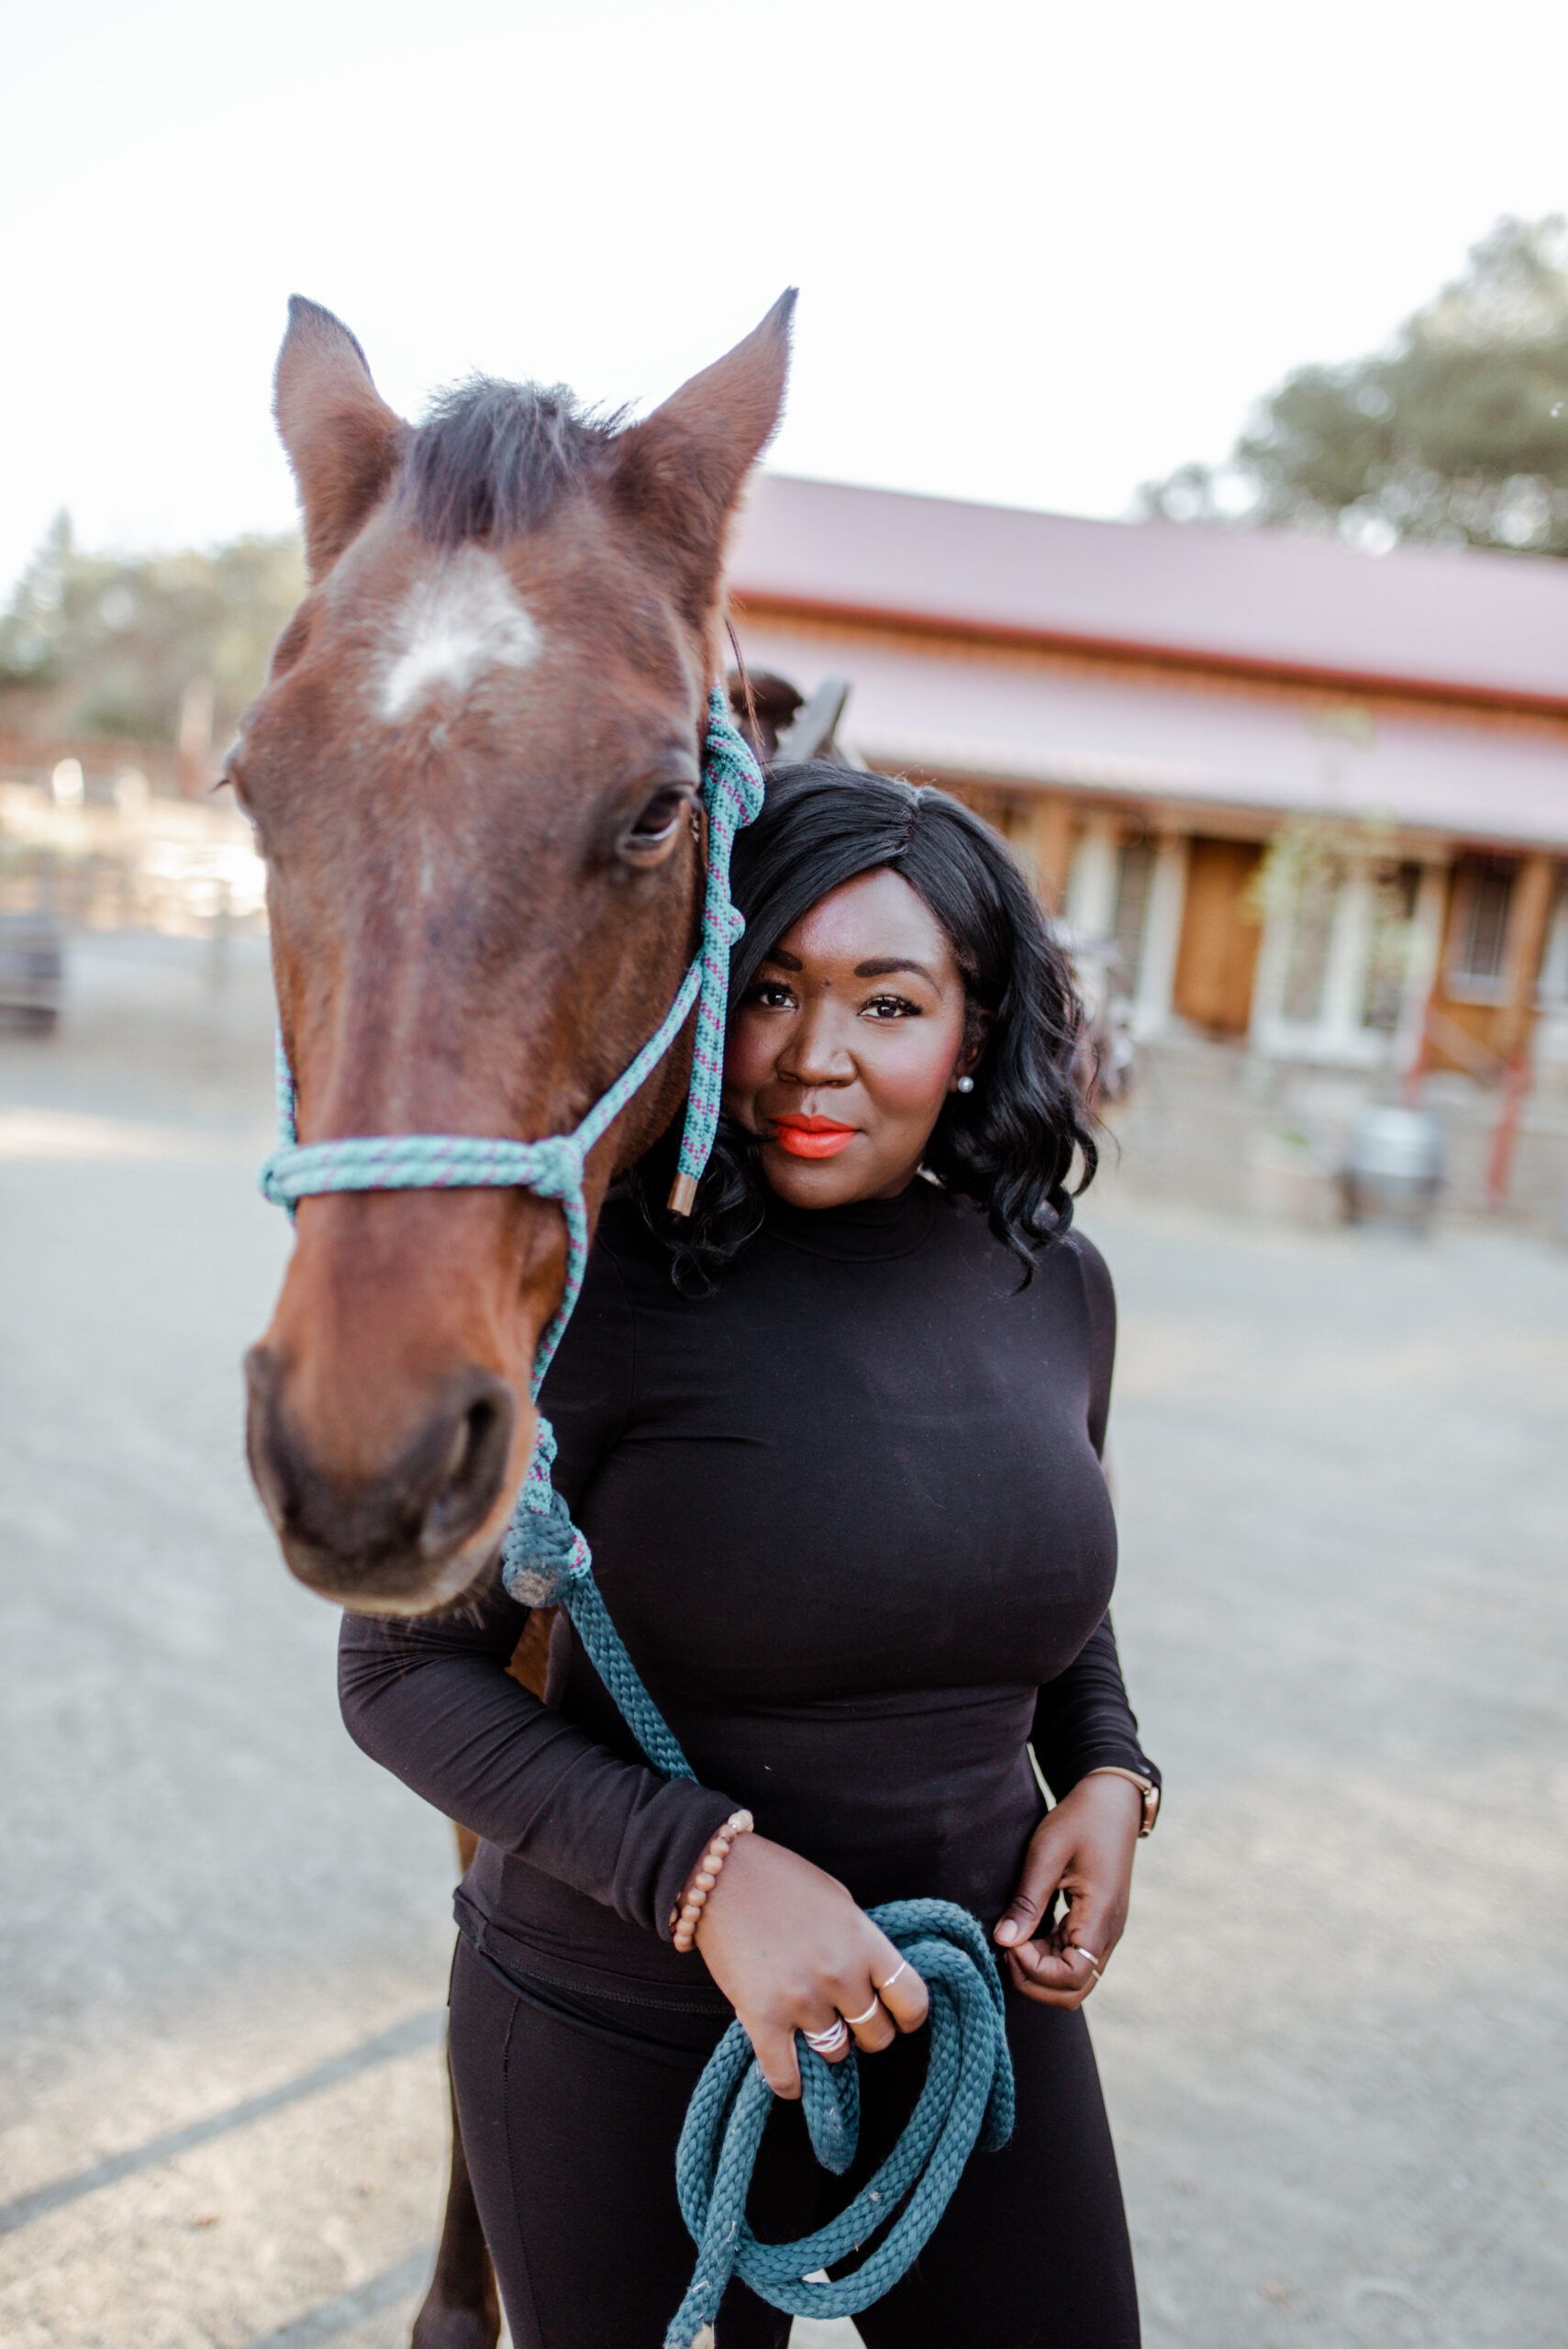
MULTIPOLYGON (((256 940, 89 942, 0 1038, 7 2349, 397 2349, 434 2234, 448 1835, 239 1456, 268 1104, 256 940)), ((1559 2349, 1568 1257, 1138 1172, 1084 1224, 1169 1783, 1091 2008, 1145 2340, 1559 2349)))

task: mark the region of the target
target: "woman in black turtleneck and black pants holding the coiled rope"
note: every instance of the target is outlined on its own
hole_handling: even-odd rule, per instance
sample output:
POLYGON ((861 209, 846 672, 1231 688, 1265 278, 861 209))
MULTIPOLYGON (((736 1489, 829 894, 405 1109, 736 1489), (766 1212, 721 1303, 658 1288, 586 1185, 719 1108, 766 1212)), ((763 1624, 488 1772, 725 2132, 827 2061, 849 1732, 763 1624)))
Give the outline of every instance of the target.
MULTIPOLYGON (((549 1705, 507 1677, 523 1609, 500 1583, 446 1621, 343 1633, 354 1738, 484 1839, 451 2046, 507 2318, 519 2349, 662 2340, 692 2260, 676 2138, 732 2015, 782 2098, 756 2232, 805 2234, 854 2192, 922 2077, 925 1985, 866 1910, 930 1893, 1002 1952, 1019 2121, 859 2333, 1134 2349, 1080 2008, 1157 1776, 1106 1616, 1115 1308, 1070 1231, 1094 1142, 1068 968, 1005 846, 880 775, 782 768, 735 897, 695 1214, 660 1205, 667 1149, 608 1200, 542 1395, 556 1485, 697 1783, 646 1769, 563 1621, 549 1705), (714 1846, 739 1806, 756 1832, 714 1846), (871 2058, 843 2182, 805 2140, 796 2032, 871 2058)), ((718 2349, 786 2340, 732 2283, 718 2349)))

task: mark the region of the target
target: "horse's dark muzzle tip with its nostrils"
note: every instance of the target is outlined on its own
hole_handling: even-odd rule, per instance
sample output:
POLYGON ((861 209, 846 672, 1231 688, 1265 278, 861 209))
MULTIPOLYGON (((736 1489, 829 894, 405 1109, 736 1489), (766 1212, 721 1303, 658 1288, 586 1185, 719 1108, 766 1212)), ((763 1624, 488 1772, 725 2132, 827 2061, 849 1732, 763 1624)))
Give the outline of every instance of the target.
POLYGON ((458 1600, 484 1564, 469 1550, 507 1485, 516 1402, 505 1379, 451 1374, 413 1435, 350 1470, 324 1461, 289 1409, 275 1348, 254 1346, 244 1377, 251 1475, 298 1581, 371 1614, 458 1600))

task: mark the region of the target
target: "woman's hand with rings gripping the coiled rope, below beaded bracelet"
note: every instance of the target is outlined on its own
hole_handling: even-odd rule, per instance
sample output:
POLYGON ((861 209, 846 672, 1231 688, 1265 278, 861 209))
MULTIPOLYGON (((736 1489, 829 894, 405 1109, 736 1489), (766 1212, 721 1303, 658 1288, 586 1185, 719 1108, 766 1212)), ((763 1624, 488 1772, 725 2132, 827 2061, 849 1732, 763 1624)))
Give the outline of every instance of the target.
MULTIPOLYGON (((915 1968, 836 1877, 765 1835, 730 1846, 697 1919, 697 1947, 775 2095, 800 2095, 796 2032, 826 2032, 843 2015, 854 2046, 873 2055, 892 2046, 894 2030, 925 2022, 930 2001, 915 1968)), ((845 2041, 829 2062, 847 2053, 845 2041)))

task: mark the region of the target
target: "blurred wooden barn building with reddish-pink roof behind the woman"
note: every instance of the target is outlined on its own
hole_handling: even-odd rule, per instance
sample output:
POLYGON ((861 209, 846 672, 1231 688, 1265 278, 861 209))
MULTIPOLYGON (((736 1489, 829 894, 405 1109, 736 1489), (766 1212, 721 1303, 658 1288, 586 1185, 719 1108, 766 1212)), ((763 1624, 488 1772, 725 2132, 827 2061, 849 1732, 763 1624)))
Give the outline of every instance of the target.
POLYGON ((1148 1045, 1568 1071, 1568 564, 768 474, 746 662, 986 813, 1148 1045))

